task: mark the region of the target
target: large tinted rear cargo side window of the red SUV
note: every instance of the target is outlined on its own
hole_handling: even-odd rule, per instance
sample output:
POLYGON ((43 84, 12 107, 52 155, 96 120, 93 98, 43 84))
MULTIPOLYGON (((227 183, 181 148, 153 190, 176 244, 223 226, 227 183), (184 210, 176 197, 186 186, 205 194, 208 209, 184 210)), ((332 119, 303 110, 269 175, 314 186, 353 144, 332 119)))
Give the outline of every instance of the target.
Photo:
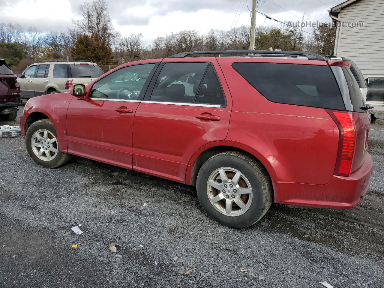
POLYGON ((232 67, 270 101, 345 110, 328 66, 238 62, 232 67))

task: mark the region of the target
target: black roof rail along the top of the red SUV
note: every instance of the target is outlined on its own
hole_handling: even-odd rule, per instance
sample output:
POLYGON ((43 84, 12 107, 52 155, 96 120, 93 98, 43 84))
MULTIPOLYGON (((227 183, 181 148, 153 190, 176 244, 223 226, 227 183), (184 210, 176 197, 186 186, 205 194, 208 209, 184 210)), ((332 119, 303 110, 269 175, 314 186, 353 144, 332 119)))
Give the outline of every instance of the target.
POLYGON ((298 51, 267 51, 267 50, 224 50, 224 51, 194 51, 178 53, 167 58, 183 58, 189 55, 199 54, 271 54, 271 55, 302 55, 306 56, 309 60, 325 61, 323 57, 318 54, 310 52, 298 52, 298 51))

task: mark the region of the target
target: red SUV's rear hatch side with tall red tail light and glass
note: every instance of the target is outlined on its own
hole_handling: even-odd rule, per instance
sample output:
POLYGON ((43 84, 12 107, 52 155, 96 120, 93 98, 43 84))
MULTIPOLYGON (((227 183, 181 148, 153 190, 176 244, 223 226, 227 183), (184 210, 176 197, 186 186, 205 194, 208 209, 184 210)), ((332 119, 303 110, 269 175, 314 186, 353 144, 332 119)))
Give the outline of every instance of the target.
POLYGON ((348 176, 362 166, 367 153, 370 117, 347 61, 328 60, 338 82, 346 111, 329 110, 340 132, 335 174, 348 176))

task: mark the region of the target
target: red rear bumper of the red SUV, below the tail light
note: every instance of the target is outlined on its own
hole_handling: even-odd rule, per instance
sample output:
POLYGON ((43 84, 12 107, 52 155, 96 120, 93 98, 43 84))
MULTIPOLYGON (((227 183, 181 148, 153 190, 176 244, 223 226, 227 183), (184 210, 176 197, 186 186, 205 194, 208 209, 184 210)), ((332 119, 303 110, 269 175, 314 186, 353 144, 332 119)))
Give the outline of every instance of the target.
POLYGON ((348 209, 365 196, 373 171, 371 155, 366 153, 363 165, 349 177, 333 175, 326 185, 273 182, 275 202, 310 207, 348 209))

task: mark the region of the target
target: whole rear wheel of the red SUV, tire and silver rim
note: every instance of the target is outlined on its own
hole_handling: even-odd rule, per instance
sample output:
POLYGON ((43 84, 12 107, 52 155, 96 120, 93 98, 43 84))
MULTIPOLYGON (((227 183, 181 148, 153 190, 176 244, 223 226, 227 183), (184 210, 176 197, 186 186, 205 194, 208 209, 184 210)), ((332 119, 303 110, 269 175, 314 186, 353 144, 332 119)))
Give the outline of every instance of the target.
POLYGON ((208 159, 197 175, 197 195, 207 214, 223 225, 253 225, 272 203, 264 167, 245 154, 229 151, 208 159))

